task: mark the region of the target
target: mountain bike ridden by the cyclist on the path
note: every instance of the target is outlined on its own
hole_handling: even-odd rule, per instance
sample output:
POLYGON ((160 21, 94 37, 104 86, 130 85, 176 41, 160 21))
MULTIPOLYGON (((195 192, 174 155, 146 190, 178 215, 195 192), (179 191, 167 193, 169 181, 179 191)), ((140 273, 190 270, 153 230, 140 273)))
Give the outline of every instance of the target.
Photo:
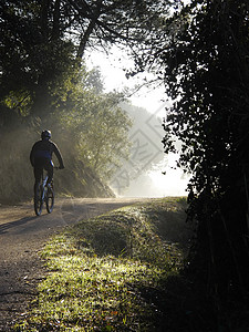
MULTIPOLYGON (((54 167, 54 169, 59 169, 59 167, 54 167)), ((53 184, 46 184, 48 174, 44 177, 44 170, 42 170, 42 178, 35 189, 34 194, 34 211, 37 216, 41 216, 43 205, 45 203, 48 214, 51 214, 54 205, 54 189, 53 184)))

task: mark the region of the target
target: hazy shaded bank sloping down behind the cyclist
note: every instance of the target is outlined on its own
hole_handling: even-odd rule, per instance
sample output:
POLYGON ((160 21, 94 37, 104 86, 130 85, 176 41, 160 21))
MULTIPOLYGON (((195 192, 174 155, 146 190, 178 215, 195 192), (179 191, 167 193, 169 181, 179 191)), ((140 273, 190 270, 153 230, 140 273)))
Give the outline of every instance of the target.
MULTIPOLYGON (((50 122, 51 124, 52 122, 50 122)), ((51 129, 52 141, 62 153, 65 169, 54 172, 56 195, 74 197, 112 197, 113 191, 102 183, 100 177, 77 158, 73 148, 73 133, 62 131, 56 123, 51 125, 37 123, 13 123, 0 132, 1 186, 0 205, 30 201, 33 198, 34 175, 30 164, 30 151, 41 138, 41 132, 51 129)), ((56 157, 53 163, 58 165, 56 157)))

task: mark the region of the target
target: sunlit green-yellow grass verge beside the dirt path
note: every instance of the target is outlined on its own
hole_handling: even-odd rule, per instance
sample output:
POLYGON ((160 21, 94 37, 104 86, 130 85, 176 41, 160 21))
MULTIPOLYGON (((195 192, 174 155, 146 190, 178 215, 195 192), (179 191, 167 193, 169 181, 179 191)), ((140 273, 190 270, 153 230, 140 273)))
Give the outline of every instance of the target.
POLYGON ((154 300, 183 267, 186 203, 176 198, 82 220, 42 251, 48 276, 18 331, 156 331, 154 300))

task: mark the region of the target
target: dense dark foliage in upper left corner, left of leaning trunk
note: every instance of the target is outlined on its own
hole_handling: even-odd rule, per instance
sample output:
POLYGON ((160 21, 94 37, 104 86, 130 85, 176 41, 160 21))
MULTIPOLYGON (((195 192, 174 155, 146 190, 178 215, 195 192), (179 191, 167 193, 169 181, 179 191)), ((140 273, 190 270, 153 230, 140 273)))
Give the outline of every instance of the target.
POLYGON ((59 81, 63 84, 66 74, 72 76, 73 44, 61 38, 65 28, 55 33, 56 7, 49 12, 46 2, 0 3, 0 97, 4 106, 10 106, 6 98, 14 101, 8 107, 10 114, 42 117, 51 111, 53 85, 59 81))

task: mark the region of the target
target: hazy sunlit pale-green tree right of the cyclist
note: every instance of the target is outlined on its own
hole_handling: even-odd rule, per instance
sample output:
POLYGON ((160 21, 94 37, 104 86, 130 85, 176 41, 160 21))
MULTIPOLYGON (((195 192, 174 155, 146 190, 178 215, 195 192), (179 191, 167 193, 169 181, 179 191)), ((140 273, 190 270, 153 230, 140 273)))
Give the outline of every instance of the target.
MULTIPOLYGON (((96 75, 90 74, 96 80, 96 75)), ((84 86, 84 81, 82 85, 84 86)), ((76 146, 76 155, 85 166, 91 167, 103 180, 120 166, 129 154, 129 116, 118 107, 122 94, 96 94, 100 84, 92 89, 79 89, 73 96, 71 112, 58 113, 60 123, 71 133, 71 142, 76 146)))

